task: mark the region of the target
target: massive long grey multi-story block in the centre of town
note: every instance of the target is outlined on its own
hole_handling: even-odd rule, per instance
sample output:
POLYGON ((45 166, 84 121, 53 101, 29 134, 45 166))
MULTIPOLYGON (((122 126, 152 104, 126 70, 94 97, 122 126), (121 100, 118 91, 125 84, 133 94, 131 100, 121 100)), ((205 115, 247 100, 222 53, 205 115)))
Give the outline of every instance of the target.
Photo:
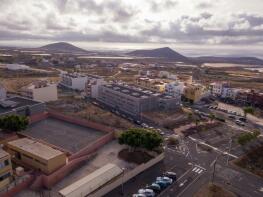
POLYGON ((138 118, 142 112, 176 109, 181 104, 181 97, 128 85, 106 84, 99 86, 98 101, 113 110, 138 118))

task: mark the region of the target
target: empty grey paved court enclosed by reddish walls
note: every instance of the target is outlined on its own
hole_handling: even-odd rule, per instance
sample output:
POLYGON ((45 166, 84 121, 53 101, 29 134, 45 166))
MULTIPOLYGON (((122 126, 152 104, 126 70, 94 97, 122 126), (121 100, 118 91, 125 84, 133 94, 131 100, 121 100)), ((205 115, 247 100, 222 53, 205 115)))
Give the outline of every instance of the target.
POLYGON ((29 126, 24 134, 75 153, 99 139, 105 133, 54 118, 47 118, 29 126))

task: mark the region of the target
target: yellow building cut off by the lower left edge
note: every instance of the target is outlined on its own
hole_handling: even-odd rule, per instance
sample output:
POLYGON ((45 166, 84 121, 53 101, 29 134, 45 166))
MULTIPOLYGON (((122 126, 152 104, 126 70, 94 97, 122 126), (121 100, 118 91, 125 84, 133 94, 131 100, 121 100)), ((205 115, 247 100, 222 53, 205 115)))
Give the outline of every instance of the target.
POLYGON ((5 188, 12 180, 13 170, 10 154, 0 149, 0 190, 5 188))

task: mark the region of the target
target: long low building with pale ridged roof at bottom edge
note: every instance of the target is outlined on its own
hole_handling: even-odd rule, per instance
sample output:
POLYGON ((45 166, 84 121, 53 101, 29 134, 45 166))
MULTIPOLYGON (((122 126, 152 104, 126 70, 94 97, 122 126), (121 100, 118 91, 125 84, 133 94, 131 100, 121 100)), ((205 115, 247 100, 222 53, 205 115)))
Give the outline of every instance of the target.
POLYGON ((63 197, 88 196, 107 182, 122 174, 122 172, 123 170, 117 165, 111 163, 106 164, 93 173, 60 190, 59 194, 63 197))

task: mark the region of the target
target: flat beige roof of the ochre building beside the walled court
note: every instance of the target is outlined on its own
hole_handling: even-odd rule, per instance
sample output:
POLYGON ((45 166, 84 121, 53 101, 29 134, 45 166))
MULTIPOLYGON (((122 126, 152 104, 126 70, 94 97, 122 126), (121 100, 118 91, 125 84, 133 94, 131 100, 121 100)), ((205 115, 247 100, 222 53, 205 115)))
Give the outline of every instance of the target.
POLYGON ((56 150, 50 146, 31 140, 29 138, 20 138, 18 140, 14 140, 8 142, 8 145, 21 149, 25 152, 31 153, 45 160, 49 160, 61 154, 64 154, 59 150, 56 150))

